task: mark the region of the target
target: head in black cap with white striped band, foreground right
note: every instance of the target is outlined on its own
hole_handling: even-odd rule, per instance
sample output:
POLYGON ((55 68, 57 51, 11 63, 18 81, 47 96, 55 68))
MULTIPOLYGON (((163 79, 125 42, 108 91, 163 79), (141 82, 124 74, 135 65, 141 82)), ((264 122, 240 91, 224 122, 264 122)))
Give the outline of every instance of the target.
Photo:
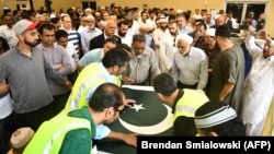
POLYGON ((194 122, 202 137, 243 137, 244 126, 232 107, 224 102, 207 102, 196 111, 194 122))

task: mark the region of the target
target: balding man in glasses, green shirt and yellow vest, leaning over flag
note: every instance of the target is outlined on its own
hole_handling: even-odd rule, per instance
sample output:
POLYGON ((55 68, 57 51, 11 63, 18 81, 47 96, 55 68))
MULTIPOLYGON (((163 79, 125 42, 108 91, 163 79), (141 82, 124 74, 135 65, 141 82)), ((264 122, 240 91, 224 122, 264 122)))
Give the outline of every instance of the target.
POLYGON ((45 121, 26 146, 24 154, 88 154, 92 151, 95 126, 113 123, 126 107, 124 92, 113 83, 101 84, 89 106, 61 111, 45 121))

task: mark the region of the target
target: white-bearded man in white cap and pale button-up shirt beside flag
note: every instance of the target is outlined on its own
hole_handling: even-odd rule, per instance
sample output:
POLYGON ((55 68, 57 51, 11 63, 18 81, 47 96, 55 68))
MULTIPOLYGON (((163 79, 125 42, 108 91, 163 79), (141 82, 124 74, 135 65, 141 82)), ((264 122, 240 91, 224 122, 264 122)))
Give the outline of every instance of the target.
POLYGON ((192 46, 193 38, 179 34, 175 39, 171 75, 179 88, 204 90, 208 78, 208 58, 199 48, 192 46))

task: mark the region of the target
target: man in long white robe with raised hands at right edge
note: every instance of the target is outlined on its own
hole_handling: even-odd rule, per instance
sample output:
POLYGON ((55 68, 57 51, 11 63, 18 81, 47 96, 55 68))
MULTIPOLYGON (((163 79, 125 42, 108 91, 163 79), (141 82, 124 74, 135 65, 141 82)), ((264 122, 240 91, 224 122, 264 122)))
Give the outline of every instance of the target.
POLYGON ((244 82, 242 120, 247 135, 262 135, 263 126, 274 93, 274 42, 265 29, 259 32, 265 45, 255 45, 255 28, 249 27, 244 40, 252 57, 252 67, 244 82))

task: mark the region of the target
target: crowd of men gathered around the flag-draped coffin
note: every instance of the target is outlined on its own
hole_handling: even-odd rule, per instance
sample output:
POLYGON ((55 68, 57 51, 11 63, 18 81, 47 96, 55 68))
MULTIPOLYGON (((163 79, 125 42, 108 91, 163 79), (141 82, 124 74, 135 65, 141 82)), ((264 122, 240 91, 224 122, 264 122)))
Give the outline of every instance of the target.
POLYGON ((232 12, 147 4, 15 10, 1 19, 1 154, 89 153, 104 138, 137 146, 138 134, 105 126, 135 103, 126 84, 153 86, 172 106, 174 135, 262 135, 274 94, 263 13, 249 12, 239 27, 232 12), (231 39, 240 29, 242 46, 231 39), (10 145, 21 128, 33 139, 10 145))

